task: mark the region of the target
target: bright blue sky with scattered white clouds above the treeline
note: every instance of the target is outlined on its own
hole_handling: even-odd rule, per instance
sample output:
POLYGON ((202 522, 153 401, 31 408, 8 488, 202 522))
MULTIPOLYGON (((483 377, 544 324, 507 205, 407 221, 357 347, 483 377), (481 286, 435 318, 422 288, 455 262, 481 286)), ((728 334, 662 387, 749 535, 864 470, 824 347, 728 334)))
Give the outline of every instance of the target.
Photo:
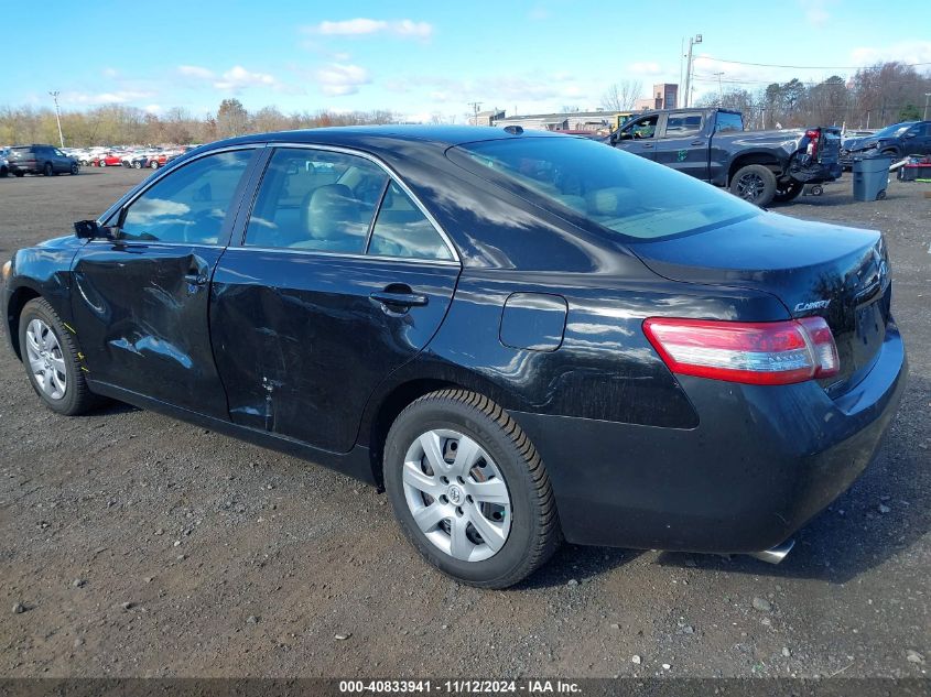
POLYGON ((0 106, 51 106, 58 90, 66 110, 120 104, 194 116, 227 97, 249 110, 386 109, 411 121, 464 121, 476 101, 509 116, 587 110, 615 83, 639 80, 642 96, 679 83, 682 42, 696 34, 695 98, 718 90, 716 73, 725 90, 756 90, 879 61, 931 72, 927 0, 886 0, 881 11, 867 0, 3 6, 0 24, 15 31, 4 31, 0 106))

